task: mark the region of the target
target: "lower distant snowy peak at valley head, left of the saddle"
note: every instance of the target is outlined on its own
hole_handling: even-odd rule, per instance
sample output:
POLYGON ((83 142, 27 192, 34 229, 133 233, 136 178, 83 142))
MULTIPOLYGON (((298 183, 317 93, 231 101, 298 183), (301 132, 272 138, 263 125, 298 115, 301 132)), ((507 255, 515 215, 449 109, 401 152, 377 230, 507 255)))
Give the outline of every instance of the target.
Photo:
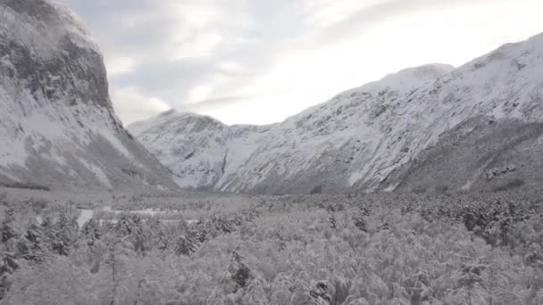
POLYGON ((237 169, 251 152, 261 127, 229 127, 213 118, 166 111, 129 126, 149 151, 171 169, 183 188, 213 190, 227 169, 237 169), (166 128, 166 129, 164 129, 166 128), (233 153, 233 154, 230 154, 233 153))

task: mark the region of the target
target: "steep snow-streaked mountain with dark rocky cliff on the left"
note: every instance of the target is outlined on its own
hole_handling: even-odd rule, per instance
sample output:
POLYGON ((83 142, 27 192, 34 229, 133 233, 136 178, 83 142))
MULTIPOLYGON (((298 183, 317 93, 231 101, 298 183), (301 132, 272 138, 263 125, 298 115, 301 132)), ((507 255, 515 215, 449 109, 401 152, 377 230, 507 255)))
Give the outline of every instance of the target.
POLYGON ((0 0, 0 185, 177 188, 113 113, 78 17, 46 0, 0 0))

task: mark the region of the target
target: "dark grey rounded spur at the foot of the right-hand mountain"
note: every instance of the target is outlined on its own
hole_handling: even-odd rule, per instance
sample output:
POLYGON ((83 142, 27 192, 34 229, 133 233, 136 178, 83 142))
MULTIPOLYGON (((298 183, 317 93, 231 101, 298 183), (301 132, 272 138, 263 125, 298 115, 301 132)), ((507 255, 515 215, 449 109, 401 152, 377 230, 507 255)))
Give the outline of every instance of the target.
POLYGON ((543 185, 543 123, 480 116, 448 130, 437 144, 396 169, 401 192, 506 191, 543 185))

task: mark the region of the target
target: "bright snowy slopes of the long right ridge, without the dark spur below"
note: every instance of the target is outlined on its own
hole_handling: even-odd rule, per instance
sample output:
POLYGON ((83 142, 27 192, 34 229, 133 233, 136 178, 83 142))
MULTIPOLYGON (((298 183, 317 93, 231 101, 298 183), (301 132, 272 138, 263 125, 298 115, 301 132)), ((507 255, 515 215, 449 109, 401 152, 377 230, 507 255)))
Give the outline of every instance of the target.
POLYGON ((251 190, 322 170, 345 187, 371 181, 371 188, 473 116, 541 120, 542 88, 539 35, 456 69, 431 64, 402 70, 267 127, 210 120, 195 131, 190 122, 197 115, 169 111, 129 129, 182 177, 181 186, 251 190), (195 153, 186 160, 176 150, 195 153))

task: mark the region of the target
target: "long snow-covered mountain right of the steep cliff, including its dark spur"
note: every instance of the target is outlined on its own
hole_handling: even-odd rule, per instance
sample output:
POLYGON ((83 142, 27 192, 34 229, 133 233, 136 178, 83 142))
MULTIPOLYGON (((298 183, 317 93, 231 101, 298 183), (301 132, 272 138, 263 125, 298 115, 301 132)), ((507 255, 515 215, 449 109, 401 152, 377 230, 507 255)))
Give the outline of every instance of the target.
MULTIPOLYGON (((499 183, 485 178, 510 162, 498 160, 500 153, 520 143, 495 145, 504 142, 499 128, 515 138, 531 126, 535 131, 523 132, 533 136, 541 120, 543 35, 504 45, 456 69, 432 64, 403 70, 270 126, 229 127, 169 111, 129 130, 186 188, 264 194, 413 190, 426 177, 424 187, 494 189, 499 183, 520 185, 518 177, 505 175, 499 183), (476 139, 492 132, 489 143, 478 146, 476 139), (435 157, 450 156, 453 148, 430 150, 467 135, 472 140, 463 147, 476 153, 455 160, 470 166, 448 185, 447 168, 435 157)), ((543 137, 535 139, 530 152, 543 143, 543 137)), ((522 185, 537 184, 538 177, 530 179, 522 185)))

